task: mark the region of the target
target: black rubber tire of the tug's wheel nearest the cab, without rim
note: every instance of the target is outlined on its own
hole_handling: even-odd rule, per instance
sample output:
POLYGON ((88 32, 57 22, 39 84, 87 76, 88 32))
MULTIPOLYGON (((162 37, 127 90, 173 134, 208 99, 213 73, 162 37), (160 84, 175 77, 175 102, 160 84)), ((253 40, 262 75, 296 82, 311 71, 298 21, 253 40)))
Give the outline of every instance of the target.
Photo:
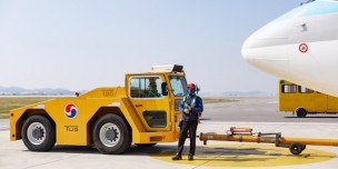
POLYGON ((127 121, 125 121, 121 117, 117 115, 108 113, 96 121, 92 130, 92 140, 96 148, 101 153, 107 153, 107 155, 123 153, 130 148, 131 131, 127 125, 127 121), (119 141, 112 147, 105 146, 105 143, 100 139, 100 130, 107 123, 113 123, 120 131, 120 132, 115 132, 116 138, 119 137, 119 141))

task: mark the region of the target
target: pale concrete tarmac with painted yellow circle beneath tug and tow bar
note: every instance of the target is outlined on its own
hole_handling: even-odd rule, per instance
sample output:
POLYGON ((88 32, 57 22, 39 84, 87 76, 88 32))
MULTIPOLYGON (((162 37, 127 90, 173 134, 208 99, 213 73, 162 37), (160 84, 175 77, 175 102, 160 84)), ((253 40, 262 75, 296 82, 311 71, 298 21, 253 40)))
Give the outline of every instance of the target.
MULTIPOLYGON (((206 105, 205 118, 198 126, 198 133, 217 132, 225 135, 230 127, 247 127, 252 128, 254 132, 281 132, 282 137, 338 138, 337 116, 317 115, 317 117, 310 116, 299 119, 294 118, 291 113, 276 112, 276 98, 235 99, 239 101, 206 105)), ((9 120, 0 120, 1 169, 256 169, 262 167, 276 169, 336 169, 338 165, 338 147, 308 145, 301 155, 294 156, 287 148, 276 148, 275 145, 268 143, 210 140, 207 146, 203 146, 202 141, 197 140, 193 161, 188 161, 186 153, 181 161, 172 161, 171 157, 176 149, 177 142, 171 142, 158 143, 151 148, 139 148, 133 145, 123 155, 101 155, 93 147, 73 146, 56 146, 48 152, 32 152, 24 147, 22 140, 9 140, 9 120)), ((188 149, 189 139, 186 141, 185 152, 188 149)))

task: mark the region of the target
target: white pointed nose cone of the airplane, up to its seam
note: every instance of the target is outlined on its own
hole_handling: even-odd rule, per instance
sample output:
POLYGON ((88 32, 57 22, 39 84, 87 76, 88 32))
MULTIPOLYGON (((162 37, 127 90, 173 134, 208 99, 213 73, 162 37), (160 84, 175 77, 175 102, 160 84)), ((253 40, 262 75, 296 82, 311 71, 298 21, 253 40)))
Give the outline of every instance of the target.
POLYGON ((252 33, 242 44, 243 59, 262 71, 285 77, 288 73, 288 37, 285 24, 271 22, 252 33))

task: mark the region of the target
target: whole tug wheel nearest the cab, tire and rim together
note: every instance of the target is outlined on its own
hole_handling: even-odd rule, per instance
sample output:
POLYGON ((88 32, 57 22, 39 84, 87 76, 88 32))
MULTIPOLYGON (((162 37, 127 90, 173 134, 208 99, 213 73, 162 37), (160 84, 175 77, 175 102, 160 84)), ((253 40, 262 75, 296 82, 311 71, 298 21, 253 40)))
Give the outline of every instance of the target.
POLYGON ((131 131, 121 117, 109 113, 95 123, 92 140, 102 153, 123 153, 130 148, 131 131))

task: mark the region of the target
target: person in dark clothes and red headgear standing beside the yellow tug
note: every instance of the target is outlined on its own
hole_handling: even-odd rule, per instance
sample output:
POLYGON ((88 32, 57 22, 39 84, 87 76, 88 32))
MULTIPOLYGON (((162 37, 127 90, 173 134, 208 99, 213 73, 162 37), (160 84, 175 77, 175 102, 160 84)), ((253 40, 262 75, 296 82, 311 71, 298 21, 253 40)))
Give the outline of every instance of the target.
POLYGON ((193 160, 196 149, 196 130, 199 122, 199 117, 203 111, 202 99, 196 95, 197 86, 195 83, 188 83, 188 95, 185 96, 180 102, 179 109, 182 112, 182 126, 181 133, 178 141, 178 152, 172 160, 181 160, 185 141, 189 130, 190 135, 190 150, 188 153, 188 160, 193 160))

